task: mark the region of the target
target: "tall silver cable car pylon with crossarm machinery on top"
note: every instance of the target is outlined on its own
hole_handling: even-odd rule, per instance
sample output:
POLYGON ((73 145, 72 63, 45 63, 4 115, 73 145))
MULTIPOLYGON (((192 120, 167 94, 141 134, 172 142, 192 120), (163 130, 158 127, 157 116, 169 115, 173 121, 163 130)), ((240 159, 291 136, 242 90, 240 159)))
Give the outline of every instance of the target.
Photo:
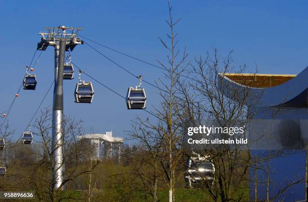
POLYGON ((45 27, 46 33, 40 32, 41 41, 37 44, 37 50, 46 50, 48 46, 54 46, 54 90, 52 107, 52 151, 55 165, 52 178, 55 180, 54 189, 63 189, 63 77, 65 51, 72 51, 76 45, 83 41, 76 37, 81 28, 73 27, 45 27), (69 30, 71 33, 66 33, 69 30))

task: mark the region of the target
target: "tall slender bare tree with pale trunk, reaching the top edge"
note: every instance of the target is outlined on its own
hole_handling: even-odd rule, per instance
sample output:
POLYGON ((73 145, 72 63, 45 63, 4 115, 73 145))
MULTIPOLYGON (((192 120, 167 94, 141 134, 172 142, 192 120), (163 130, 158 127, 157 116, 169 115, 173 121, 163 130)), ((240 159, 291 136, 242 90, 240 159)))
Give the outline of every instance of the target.
POLYGON ((152 125, 152 129, 164 140, 164 151, 162 156, 161 165, 165 171, 164 180, 169 187, 169 202, 174 201, 174 188, 177 181, 177 165, 182 158, 183 151, 180 148, 181 145, 181 131, 180 121, 181 114, 179 113, 179 105, 177 104, 177 91, 176 85, 179 82, 180 73, 186 68, 188 63, 184 63, 188 54, 186 48, 184 49, 182 56, 179 56, 180 50, 177 49, 178 33, 175 32, 175 26, 180 21, 174 20, 172 16, 172 6, 168 1, 169 6, 169 21, 166 21, 170 28, 170 34, 167 34, 169 43, 159 37, 164 47, 170 52, 168 58, 168 65, 165 65, 162 61, 158 60, 164 69, 168 71, 165 74, 166 78, 170 81, 170 84, 165 84, 162 80, 161 84, 164 91, 160 89, 160 96, 163 99, 160 109, 156 109, 156 115, 160 117, 157 125, 152 125), (184 66, 183 66, 184 65, 184 66))

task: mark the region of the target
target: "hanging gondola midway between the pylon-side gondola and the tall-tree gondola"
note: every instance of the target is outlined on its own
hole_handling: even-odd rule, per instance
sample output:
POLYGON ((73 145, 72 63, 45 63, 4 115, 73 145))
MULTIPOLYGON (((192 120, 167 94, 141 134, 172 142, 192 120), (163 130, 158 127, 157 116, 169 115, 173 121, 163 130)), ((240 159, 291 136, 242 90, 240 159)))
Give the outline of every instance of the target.
POLYGON ((82 71, 79 71, 79 82, 76 84, 75 88, 75 102, 77 103, 92 103, 94 97, 94 90, 92 82, 82 81, 81 76, 82 71))

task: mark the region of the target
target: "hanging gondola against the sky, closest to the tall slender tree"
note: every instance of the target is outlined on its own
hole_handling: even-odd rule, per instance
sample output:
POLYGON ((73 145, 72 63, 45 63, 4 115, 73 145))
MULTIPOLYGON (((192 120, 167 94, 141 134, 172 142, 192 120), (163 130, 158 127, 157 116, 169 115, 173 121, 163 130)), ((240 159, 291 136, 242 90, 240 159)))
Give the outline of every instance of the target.
POLYGON ((129 87, 126 94, 127 109, 145 109, 146 96, 141 87, 141 76, 138 77, 140 83, 136 88, 129 87))

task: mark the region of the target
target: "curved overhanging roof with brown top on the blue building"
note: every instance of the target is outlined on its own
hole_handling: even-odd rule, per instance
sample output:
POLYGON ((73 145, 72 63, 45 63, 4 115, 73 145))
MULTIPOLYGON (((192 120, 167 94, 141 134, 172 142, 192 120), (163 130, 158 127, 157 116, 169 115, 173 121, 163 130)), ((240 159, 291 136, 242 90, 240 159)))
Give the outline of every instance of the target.
POLYGON ((298 75, 221 73, 218 85, 227 97, 248 102, 259 99, 258 106, 262 107, 308 107, 307 79, 308 67, 298 75))

